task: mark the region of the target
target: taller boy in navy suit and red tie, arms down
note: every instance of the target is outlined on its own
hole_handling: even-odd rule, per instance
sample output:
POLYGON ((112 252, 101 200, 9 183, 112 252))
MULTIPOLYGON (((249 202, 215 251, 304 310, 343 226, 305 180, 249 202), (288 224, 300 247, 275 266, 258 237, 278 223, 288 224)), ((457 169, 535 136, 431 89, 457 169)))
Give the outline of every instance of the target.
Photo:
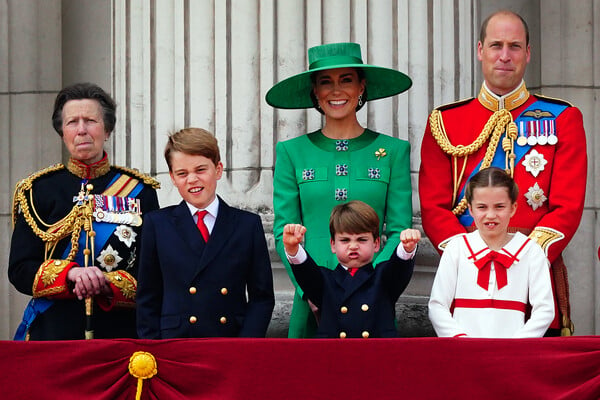
POLYGON ((140 338, 264 337, 275 304, 260 217, 216 195, 223 164, 198 128, 169 136, 183 201, 145 216, 137 291, 140 338))

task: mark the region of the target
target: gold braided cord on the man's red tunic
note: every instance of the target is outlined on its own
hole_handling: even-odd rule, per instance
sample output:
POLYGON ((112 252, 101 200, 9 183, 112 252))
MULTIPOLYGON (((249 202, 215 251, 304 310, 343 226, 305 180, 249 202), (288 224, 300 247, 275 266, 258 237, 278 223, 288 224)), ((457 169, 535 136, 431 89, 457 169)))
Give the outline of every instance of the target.
MULTIPOLYGON (((507 137, 502 141, 502 149, 506 152, 506 172, 510 173, 510 176, 513 176, 516 158, 514 153, 514 141, 517 138, 517 125, 513 122, 510 111, 503 108, 494 112, 486 122, 477 139, 475 139, 475 141, 468 146, 454 146, 452 143, 450 143, 448 135, 446 134, 446 128, 444 127, 444 121, 442 119, 442 113, 440 110, 433 110, 431 112, 431 115, 429 116, 429 126, 431 128, 431 133, 440 148, 444 151, 444 153, 451 155, 453 159, 454 189, 452 195, 452 204, 456 202, 458 185, 464 175, 469 155, 479 150, 489 138, 490 142, 485 152, 480 169, 488 168, 492 164, 494 154, 496 153, 496 148, 498 147, 498 142, 500 141, 500 136, 502 136, 502 133, 505 130, 507 131, 507 137), (459 157, 464 157, 464 160, 460 175, 457 176, 459 157)), ((466 209, 467 199, 463 197, 458 205, 452 209, 452 213, 454 215, 461 215, 466 209)))

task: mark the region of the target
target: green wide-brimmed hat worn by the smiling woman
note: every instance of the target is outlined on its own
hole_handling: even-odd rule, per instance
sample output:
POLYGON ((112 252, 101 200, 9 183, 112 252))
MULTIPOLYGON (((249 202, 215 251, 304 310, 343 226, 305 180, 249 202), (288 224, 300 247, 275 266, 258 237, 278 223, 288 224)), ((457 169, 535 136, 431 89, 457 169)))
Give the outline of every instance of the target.
POLYGON ((334 68, 361 68, 365 73, 367 98, 376 100, 402 93, 411 79, 395 69, 363 64, 358 43, 331 43, 308 49, 308 71, 277 83, 267 92, 267 103, 277 108, 312 108, 311 75, 334 68))

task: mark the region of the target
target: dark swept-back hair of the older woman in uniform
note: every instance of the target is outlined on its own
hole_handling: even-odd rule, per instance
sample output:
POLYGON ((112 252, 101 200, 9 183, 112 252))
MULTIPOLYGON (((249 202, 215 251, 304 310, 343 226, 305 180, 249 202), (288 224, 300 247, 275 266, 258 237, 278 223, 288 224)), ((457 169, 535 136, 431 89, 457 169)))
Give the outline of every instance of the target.
POLYGON ((117 103, 100 86, 94 83, 76 83, 67 86, 58 92, 54 100, 54 111, 52 112, 52 126, 62 137, 62 110, 69 100, 96 100, 102 109, 104 129, 110 133, 115 129, 117 122, 117 103))

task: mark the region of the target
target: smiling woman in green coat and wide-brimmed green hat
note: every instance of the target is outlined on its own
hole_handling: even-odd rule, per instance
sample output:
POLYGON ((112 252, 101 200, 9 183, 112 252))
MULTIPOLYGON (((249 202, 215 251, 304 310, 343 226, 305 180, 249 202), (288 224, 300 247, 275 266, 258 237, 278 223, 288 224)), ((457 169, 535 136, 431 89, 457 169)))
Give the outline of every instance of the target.
POLYGON ((366 129, 356 117, 368 100, 407 90, 410 78, 363 64, 356 43, 316 46, 308 50, 308 58, 308 71, 277 83, 266 95, 273 107, 314 107, 325 116, 322 129, 279 142, 276 148, 273 230, 277 251, 296 286, 288 333, 293 338, 313 337, 316 319, 285 257, 286 224, 306 226, 305 248, 318 265, 334 269, 328 220, 337 204, 362 200, 377 212, 388 241, 376 254, 375 265, 390 258, 400 231, 412 222, 409 143, 366 129))

